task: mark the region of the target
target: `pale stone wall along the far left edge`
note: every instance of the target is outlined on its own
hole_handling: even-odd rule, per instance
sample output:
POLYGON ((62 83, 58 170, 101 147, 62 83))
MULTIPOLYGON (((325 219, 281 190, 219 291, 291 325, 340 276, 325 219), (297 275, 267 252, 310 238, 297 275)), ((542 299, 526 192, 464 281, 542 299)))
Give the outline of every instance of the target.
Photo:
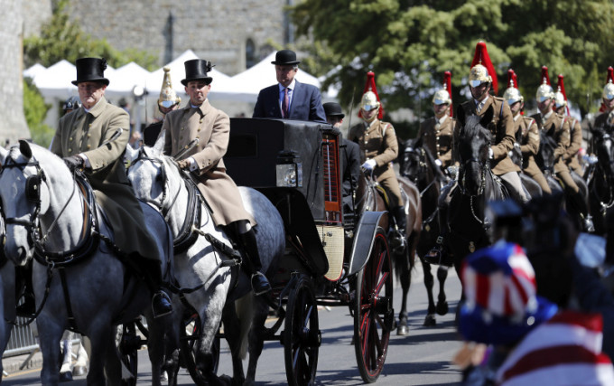
POLYGON ((5 17, 0 24, 0 146, 30 138, 23 116, 23 9, 22 3, 0 0, 5 17), (6 17, 10 15, 10 17, 6 17))

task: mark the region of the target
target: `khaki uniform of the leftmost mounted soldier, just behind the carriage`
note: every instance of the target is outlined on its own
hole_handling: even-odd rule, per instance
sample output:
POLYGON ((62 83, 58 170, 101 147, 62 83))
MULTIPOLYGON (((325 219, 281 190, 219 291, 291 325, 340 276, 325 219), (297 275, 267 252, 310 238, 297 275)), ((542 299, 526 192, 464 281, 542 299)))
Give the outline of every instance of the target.
MULTIPOLYGON (((371 125, 367 122, 360 122, 349 128, 348 139, 360 146, 360 152, 364 158, 376 161, 377 165, 373 173, 377 177, 377 182, 390 193, 390 208, 394 209, 403 205, 401 189, 391 165, 398 156, 395 127, 377 118, 371 122, 371 125)), ((362 161, 364 162, 365 159, 362 161)))

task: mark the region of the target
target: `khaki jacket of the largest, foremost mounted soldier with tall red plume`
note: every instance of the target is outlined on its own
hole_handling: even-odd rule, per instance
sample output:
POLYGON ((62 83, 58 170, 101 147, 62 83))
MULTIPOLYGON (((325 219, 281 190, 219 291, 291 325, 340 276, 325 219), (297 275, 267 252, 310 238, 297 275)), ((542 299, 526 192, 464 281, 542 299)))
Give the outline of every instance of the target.
MULTIPOLYGON (((477 110, 476 104, 473 99, 470 99, 460 105, 465 111, 466 116, 486 114, 488 107, 492 106, 494 114, 492 122, 488 124, 488 130, 492 135, 494 143, 491 148, 493 151, 493 159, 490 160, 490 168, 495 175, 506 174, 509 172, 518 172, 519 167, 512 162, 509 158, 509 151, 514 147, 515 131, 514 131, 514 118, 512 117, 512 111, 507 106, 507 101, 503 98, 493 97, 491 95, 486 99, 484 106, 477 110)), ((454 136, 458 136, 460 133, 459 122, 457 121, 454 128, 454 136)), ((456 142, 455 140, 455 143, 456 142)), ((456 152, 455 152, 456 153, 456 152)))

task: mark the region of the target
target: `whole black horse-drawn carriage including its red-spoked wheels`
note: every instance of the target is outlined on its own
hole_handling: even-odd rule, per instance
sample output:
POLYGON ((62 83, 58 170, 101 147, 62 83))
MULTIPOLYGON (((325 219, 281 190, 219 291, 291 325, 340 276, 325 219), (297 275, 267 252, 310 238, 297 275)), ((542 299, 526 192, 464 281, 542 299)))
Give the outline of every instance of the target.
POLYGON ((224 162, 237 185, 265 194, 284 220, 284 257, 269 268, 280 317, 265 339, 284 344, 289 384, 314 381, 318 305, 349 306, 358 370, 376 381, 395 321, 388 215, 359 205, 343 211, 339 133, 314 122, 233 118, 224 162))

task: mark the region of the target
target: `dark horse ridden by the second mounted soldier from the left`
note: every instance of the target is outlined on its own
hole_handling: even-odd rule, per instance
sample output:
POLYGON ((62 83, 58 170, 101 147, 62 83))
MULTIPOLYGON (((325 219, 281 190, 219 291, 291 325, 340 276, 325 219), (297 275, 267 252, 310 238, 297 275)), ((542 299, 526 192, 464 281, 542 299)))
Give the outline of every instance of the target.
POLYGON ((439 166, 435 164, 434 157, 428 147, 423 146, 422 138, 409 139, 402 148, 404 151, 400 169, 401 175, 414 182, 420 191, 422 202, 422 233, 416 251, 423 264, 424 287, 426 287, 429 299, 423 325, 433 326, 437 324, 435 312, 439 315, 445 315, 448 312, 444 285, 446 278, 448 278, 449 265, 441 264, 437 269, 439 296, 437 297, 437 306, 435 306, 433 298, 434 278, 431 273, 431 264, 423 259, 423 256, 435 245, 440 235, 438 200, 446 177, 439 166))

